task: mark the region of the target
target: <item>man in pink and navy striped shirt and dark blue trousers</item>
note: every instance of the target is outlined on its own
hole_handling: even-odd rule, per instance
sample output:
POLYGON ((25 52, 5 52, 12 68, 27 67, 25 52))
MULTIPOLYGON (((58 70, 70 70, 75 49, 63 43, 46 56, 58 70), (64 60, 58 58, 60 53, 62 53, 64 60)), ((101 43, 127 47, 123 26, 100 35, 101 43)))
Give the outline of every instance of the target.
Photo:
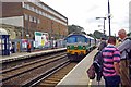
POLYGON ((120 73, 119 62, 120 52, 115 47, 116 38, 110 36, 108 38, 108 45, 103 49, 103 76, 106 87, 119 87, 120 73))

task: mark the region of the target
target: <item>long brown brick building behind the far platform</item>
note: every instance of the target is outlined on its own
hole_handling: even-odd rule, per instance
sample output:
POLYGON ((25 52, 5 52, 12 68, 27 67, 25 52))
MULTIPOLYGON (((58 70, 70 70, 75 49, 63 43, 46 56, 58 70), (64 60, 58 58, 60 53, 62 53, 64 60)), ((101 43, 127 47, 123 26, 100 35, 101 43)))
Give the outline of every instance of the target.
POLYGON ((2 24, 19 27, 19 30, 5 28, 9 33, 15 34, 16 37, 12 39, 26 39, 27 35, 33 39, 35 32, 48 33, 49 38, 56 39, 63 38, 68 34, 68 18, 39 0, 2 2, 0 10, 2 10, 0 17, 2 24))

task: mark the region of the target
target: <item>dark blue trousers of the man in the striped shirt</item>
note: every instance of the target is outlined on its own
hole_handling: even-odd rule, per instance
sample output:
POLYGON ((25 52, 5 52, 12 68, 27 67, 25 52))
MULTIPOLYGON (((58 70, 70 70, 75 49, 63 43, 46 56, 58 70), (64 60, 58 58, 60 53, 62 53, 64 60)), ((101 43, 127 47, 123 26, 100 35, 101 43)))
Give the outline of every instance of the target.
POLYGON ((119 75, 107 76, 107 77, 104 77, 104 79, 105 79, 106 87, 119 87, 119 84, 120 84, 120 76, 119 75))

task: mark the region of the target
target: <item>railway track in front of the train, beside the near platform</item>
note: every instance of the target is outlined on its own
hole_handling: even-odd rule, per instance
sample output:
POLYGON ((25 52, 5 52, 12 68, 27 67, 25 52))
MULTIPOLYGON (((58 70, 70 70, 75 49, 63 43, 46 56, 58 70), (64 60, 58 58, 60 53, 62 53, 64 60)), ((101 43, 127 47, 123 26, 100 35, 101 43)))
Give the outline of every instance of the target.
POLYGON ((60 69, 56 70, 55 73, 50 73, 43 77, 33 86, 55 87, 76 64, 78 63, 67 63, 62 65, 60 69))

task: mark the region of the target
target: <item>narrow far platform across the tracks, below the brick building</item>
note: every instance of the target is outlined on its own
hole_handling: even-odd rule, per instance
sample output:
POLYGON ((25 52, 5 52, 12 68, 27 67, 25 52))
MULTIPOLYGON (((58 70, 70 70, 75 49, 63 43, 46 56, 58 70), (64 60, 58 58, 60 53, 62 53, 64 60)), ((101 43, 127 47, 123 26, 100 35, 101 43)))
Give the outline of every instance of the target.
POLYGON ((21 59, 27 59, 31 57, 37 57, 37 55, 47 54, 51 52, 62 51, 66 49, 67 48, 59 48, 59 49, 51 49, 51 50, 41 50, 41 51, 36 51, 36 52, 31 52, 31 53, 21 52, 21 53, 12 53, 11 55, 3 55, 3 57, 1 55, 0 63, 16 61, 21 59))

